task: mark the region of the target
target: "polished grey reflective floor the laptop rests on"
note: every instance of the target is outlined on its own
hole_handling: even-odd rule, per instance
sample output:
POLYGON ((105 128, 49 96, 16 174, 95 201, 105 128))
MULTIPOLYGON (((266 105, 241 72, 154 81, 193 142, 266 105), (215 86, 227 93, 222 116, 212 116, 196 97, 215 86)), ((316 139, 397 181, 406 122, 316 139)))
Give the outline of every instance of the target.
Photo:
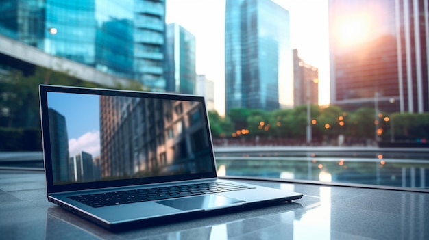
POLYGON ((247 181, 293 203, 109 232, 47 202, 42 172, 0 170, 1 239, 429 239, 429 194, 247 181))

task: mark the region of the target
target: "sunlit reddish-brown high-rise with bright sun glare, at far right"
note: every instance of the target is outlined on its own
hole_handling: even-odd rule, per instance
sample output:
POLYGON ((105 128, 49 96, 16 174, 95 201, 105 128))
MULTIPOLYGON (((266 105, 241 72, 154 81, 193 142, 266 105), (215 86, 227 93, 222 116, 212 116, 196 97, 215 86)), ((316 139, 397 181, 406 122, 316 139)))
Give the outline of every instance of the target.
POLYGON ((330 0, 331 103, 429 111, 426 1, 330 0))

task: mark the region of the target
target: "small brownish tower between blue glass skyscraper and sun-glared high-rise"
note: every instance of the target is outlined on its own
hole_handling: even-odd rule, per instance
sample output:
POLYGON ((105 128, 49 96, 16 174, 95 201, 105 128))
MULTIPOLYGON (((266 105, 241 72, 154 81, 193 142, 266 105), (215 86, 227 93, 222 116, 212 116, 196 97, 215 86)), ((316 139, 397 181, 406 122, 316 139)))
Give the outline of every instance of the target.
POLYGON ((306 64, 293 49, 293 106, 319 105, 319 70, 306 64))

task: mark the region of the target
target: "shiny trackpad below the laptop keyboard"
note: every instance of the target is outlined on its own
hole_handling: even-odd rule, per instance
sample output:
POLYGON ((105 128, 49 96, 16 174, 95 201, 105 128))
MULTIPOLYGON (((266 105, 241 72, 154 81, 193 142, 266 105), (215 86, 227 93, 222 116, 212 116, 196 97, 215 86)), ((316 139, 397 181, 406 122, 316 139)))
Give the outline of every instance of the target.
POLYGON ((241 202, 244 201, 237 200, 234 198, 226 198, 223 196, 218 196, 216 194, 157 201, 157 203, 159 204, 171 206, 175 209, 180 209, 184 211, 194 209, 221 209, 225 206, 241 205, 241 202))

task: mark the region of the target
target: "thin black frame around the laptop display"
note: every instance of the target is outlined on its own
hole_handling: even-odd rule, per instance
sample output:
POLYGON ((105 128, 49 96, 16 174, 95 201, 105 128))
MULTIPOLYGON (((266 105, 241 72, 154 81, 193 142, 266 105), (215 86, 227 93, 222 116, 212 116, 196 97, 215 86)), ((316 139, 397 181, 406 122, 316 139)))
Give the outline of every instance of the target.
POLYGON ((45 163, 45 175, 47 184, 47 193, 57 193, 62 191, 77 191, 86 189, 100 189, 106 187, 124 187, 132 185, 144 185, 151 183, 166 183, 173 181, 186 181, 195 180, 202 178, 216 178, 217 168, 215 163, 215 155, 213 152, 212 137, 210 131, 210 124, 208 122, 208 113, 206 104, 203 96, 185 95, 185 94, 170 94, 160 92, 139 92, 139 91, 128 91, 128 90, 109 90, 101 88, 79 88, 69 86, 58 86, 58 85, 39 85, 39 96, 40 96, 40 119, 42 124, 42 145, 43 145, 43 157, 45 163), (206 127, 210 157, 212 158, 212 171, 203 172, 196 174, 182 174, 174 176, 151 176, 145 178, 129 178, 119 179, 110 181, 97 181, 97 182, 86 182, 86 183, 68 183, 56 185, 53 182, 53 170, 52 170, 52 159, 51 159, 51 141, 49 139, 49 116, 48 116, 48 103, 47 93, 48 92, 63 92, 73 94, 93 94, 93 95, 105 95, 105 96, 125 96, 134 98, 156 98, 166 99, 174 101, 197 101, 201 103, 203 111, 206 114, 204 116, 204 125, 206 127))

